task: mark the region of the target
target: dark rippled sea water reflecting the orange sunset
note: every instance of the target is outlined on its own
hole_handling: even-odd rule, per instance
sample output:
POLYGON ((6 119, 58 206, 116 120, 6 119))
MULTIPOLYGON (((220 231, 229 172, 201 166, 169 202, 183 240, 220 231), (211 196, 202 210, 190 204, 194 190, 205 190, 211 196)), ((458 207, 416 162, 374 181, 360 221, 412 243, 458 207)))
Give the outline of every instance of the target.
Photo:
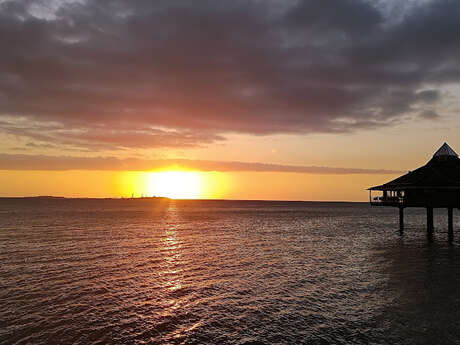
POLYGON ((0 200, 0 343, 458 344, 445 213, 0 200))

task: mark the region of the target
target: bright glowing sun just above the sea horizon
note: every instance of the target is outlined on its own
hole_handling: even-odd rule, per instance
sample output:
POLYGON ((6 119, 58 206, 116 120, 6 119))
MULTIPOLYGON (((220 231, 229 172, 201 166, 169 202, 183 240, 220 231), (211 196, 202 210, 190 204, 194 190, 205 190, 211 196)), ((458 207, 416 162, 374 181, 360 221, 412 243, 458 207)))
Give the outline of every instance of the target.
POLYGON ((202 194, 203 178, 194 171, 162 171, 149 173, 147 192, 152 196, 171 199, 198 199, 202 194))

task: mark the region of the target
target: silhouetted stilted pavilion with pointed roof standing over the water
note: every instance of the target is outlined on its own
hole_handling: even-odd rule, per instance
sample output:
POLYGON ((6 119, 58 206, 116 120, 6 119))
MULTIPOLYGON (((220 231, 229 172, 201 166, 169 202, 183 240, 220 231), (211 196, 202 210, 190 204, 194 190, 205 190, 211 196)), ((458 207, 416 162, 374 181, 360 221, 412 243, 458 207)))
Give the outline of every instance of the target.
POLYGON ((460 208, 460 159, 447 143, 424 166, 368 190, 371 205, 399 208, 401 234, 404 232, 404 208, 426 208, 429 237, 434 231, 433 208, 447 208, 449 241, 454 239, 453 209, 460 208), (382 193, 375 196, 375 191, 382 193))

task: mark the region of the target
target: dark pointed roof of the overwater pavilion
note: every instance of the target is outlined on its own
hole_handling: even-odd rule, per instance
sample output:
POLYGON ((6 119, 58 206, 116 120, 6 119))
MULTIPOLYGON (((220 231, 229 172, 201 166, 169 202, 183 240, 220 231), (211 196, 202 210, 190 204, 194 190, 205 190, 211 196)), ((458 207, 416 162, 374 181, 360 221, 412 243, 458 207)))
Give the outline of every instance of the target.
POLYGON ((460 189, 460 159, 444 143, 424 166, 369 190, 460 189))

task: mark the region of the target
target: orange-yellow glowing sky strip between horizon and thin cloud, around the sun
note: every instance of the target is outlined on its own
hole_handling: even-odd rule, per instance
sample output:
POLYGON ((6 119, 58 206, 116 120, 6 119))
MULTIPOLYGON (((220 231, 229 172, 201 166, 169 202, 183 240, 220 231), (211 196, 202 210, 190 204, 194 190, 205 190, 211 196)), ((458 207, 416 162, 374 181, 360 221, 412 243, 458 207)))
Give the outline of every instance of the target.
MULTIPOLYGON (((169 171, 190 170, 174 167, 169 171)), ((365 201, 366 188, 398 174, 322 175, 277 172, 194 171, 202 178, 198 199, 365 201)), ((154 196, 155 171, 0 170, 2 196, 54 195, 90 198, 154 196)))

